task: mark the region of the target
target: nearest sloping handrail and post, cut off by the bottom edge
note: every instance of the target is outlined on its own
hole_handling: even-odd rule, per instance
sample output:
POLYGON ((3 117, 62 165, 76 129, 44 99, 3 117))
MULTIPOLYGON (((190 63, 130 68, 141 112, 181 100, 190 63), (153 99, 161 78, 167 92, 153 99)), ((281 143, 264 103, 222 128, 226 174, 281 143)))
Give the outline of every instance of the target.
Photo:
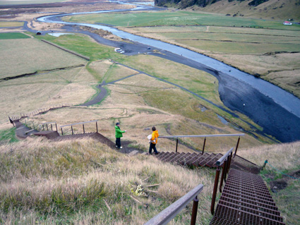
MULTIPOLYGON (((169 205, 166 209, 162 210, 159 214, 157 214, 155 217, 152 217, 148 222, 146 222, 144 225, 164 225, 168 224, 169 221, 171 221, 174 217, 176 217, 179 212, 181 212, 186 205, 188 205, 189 202, 196 199, 196 204, 198 207, 198 199, 197 195, 203 190, 203 184, 199 184, 196 186, 196 188, 193 188, 193 190, 190 190, 186 195, 179 198, 179 200, 176 200, 172 205, 169 205)), ((194 212, 197 210, 196 207, 193 205, 193 213, 192 213, 192 221, 196 221, 196 214, 194 212)), ((191 223, 192 224, 192 223, 191 223)), ((193 223, 194 224, 194 223, 193 223)))

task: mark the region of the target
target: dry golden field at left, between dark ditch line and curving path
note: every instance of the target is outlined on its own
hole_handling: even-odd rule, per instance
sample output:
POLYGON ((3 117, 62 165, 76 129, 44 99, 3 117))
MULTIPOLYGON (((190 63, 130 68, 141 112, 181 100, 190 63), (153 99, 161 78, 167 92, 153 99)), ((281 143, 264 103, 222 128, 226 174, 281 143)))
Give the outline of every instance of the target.
POLYGON ((0 121, 55 104, 80 104, 95 94, 95 79, 84 67, 32 75, 0 83, 0 121), (18 91, 16 90, 18 87, 18 91))

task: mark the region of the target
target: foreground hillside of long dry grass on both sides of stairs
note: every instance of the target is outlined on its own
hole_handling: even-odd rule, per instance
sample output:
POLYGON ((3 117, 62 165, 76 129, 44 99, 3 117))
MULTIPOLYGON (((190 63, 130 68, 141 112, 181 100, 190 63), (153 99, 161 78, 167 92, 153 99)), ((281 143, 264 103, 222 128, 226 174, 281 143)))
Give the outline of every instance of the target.
MULTIPOLYGON (((239 154, 259 165, 269 159, 290 174, 300 169, 299 147, 300 142, 268 145, 239 154)), ((1 145, 0 168, 1 224, 143 224, 198 183, 205 188, 199 195, 197 224, 209 224, 212 217, 214 169, 191 170, 154 157, 128 157, 93 140, 28 138, 1 145), (154 184, 158 185, 150 187, 154 184)), ((268 183, 280 178, 268 165, 263 177, 268 183)), ((296 224, 299 181, 287 183, 288 188, 273 197, 287 224, 296 224)), ((189 224, 190 214, 191 204, 170 224, 189 224)))

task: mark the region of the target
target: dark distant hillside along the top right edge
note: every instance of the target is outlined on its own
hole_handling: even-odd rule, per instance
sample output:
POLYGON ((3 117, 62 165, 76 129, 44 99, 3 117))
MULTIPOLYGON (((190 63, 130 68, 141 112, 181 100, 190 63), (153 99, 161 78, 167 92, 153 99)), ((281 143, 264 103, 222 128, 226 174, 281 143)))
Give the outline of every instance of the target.
POLYGON ((300 0, 155 0, 156 6, 275 20, 300 20, 300 0))

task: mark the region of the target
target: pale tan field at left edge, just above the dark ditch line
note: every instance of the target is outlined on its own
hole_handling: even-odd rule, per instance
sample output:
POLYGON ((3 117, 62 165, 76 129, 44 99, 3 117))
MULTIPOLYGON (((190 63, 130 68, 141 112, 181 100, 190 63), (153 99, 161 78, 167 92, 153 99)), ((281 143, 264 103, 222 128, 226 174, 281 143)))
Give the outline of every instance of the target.
POLYGON ((85 64, 86 61, 37 39, 0 40, 0 78, 85 64))

